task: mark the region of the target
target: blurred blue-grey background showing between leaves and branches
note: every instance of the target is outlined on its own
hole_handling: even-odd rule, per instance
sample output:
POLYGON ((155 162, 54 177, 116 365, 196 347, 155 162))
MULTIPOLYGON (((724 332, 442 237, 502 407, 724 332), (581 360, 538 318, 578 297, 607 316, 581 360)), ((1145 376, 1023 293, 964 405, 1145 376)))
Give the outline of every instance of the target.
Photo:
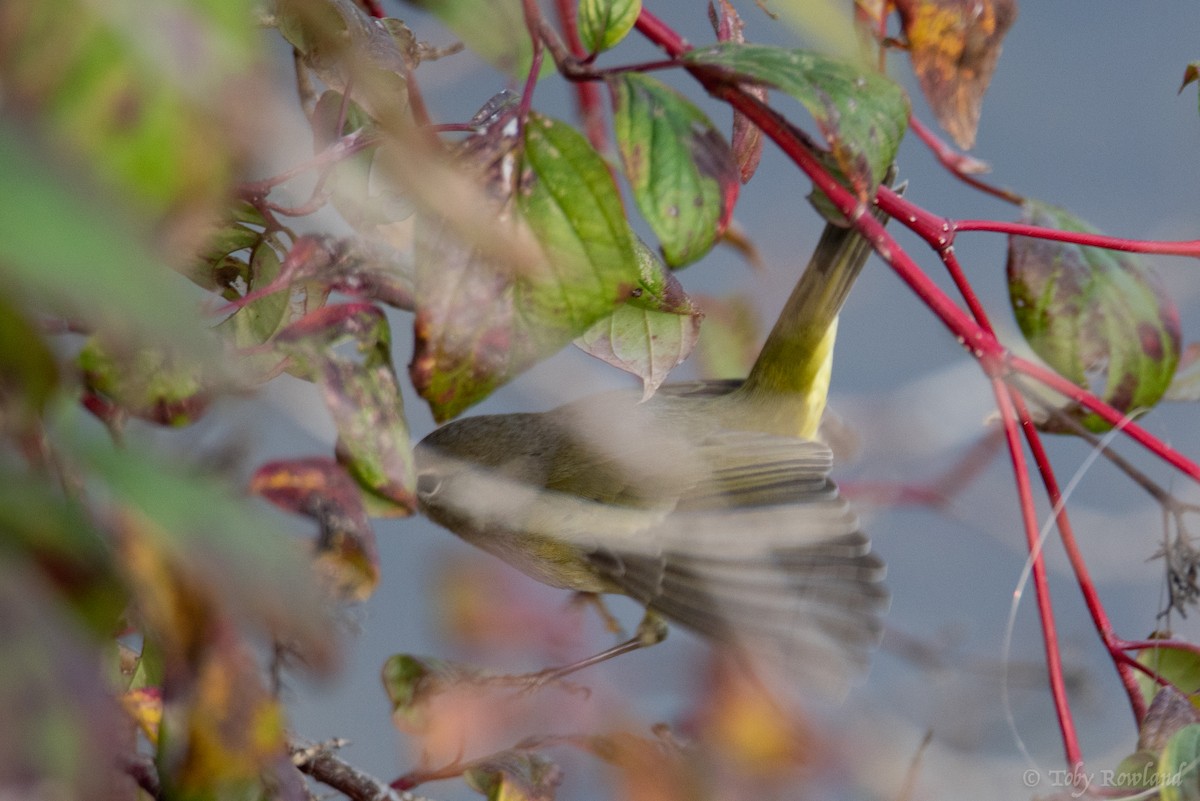
MULTIPOLYGON (((712 41, 703 2, 648 6, 694 43, 712 41)), ((774 6, 775 4, 767 4, 774 6)), ((454 36, 408 4, 384 0, 419 38, 437 46, 454 36)), ((749 41, 803 44, 803 32, 740 4, 749 41)), ((973 155, 988 162, 988 180, 1054 203, 1105 233, 1138 239, 1200 236, 1200 116, 1195 88, 1177 94, 1186 65, 1200 58, 1200 6, 1194 2, 1027 4, 1004 41, 973 155)), ((654 59, 653 49, 622 46, 617 59, 654 59)), ((280 48, 280 107, 289 108, 290 65, 280 48)), ((934 127, 907 59, 892 56, 892 74, 913 97, 916 114, 934 127)), ((506 78, 469 54, 422 65, 418 72, 436 120, 461 122, 506 78)), ((704 104, 719 126, 727 109, 704 103, 686 80, 677 86, 704 104)), ((564 82, 542 82, 535 107, 572 119, 564 82)), ((780 108, 810 127, 797 104, 780 108)), ((281 118, 277 149, 260 164, 262 176, 302 159, 311 139, 302 118, 281 118)), ((901 147, 900 176, 907 198, 955 218, 1015 219, 1018 210, 956 181, 910 135, 901 147)), ((731 248, 718 248, 680 275, 698 295, 745 297, 761 337, 805 264, 821 229, 806 201, 810 186, 768 143, 756 177, 743 189, 737 222, 758 248, 755 271, 731 248)), ((296 198, 302 198, 301 193, 296 198)), ((337 230, 325 217, 314 229, 337 230)), ((901 243, 943 287, 936 257, 893 223, 901 243)), ((1019 347, 1004 284, 1006 241, 994 234, 962 234, 958 255, 1007 342, 1019 347)), ((1200 331, 1196 264, 1159 258, 1152 263, 1178 303, 1184 341, 1200 331)), ((410 319, 394 317, 395 361, 412 355, 410 319)), ((696 375, 691 362, 676 373, 696 375)), ((568 349, 540 365, 470 414, 548 409, 563 401, 634 381, 568 349)), ((251 442, 250 463, 266 458, 328 453, 335 434, 316 390, 283 377, 260 402, 226 402, 188 436, 228 435, 251 442), (222 422, 223 421, 223 422, 222 422)), ((992 430, 994 406, 980 371, 878 259, 871 260, 841 318, 833 383, 833 410, 858 441, 835 476, 858 499, 866 529, 888 564, 893 594, 887 637, 869 676, 839 706, 806 706, 809 783, 787 797, 834 791, 842 797, 901 797, 926 733, 932 739, 917 769, 912 797, 1008 799, 1066 790, 1054 782, 1063 767, 1061 736, 1045 688, 1042 637, 1032 594, 1022 584, 1025 546, 1007 457, 997 451, 978 477, 943 510, 881 502, 880 488, 931 487, 960 471, 961 460, 992 430), (866 492, 870 489, 871 492, 866 492), (1024 596, 1021 591, 1025 590, 1024 596), (1016 604, 1014 626, 1009 620, 1016 604), (1010 637, 1009 637, 1010 636, 1010 637), (1010 648, 1006 643, 1010 639, 1010 648), (1006 689, 1007 687, 1007 689, 1006 689)), ((415 438, 432 429, 428 409, 406 396, 415 438)), ((1200 453, 1198 411, 1164 405, 1146 427, 1184 453, 1200 453)), ((169 436, 178 436, 172 434, 169 436)), ((175 440, 178 442, 178 440, 175 440)), ((1163 625, 1163 565, 1151 556, 1162 538, 1159 507, 1090 448, 1075 440, 1049 440, 1060 480, 1073 483, 1069 508, 1102 600, 1116 631, 1128 638, 1163 625), (1080 474, 1076 476, 1076 474, 1080 474)), ((1186 499, 1194 487, 1123 442, 1135 464, 1186 499)), ((1042 513, 1045 513, 1043 505, 1042 513)), ((301 524, 302 525, 302 524, 301 524)), ((696 698, 718 692, 706 646, 674 630, 660 646, 589 669, 578 681, 584 697, 558 687, 487 704, 462 700, 469 751, 458 754, 437 737, 397 733, 379 681, 392 654, 461 658, 496 670, 535 669, 581 657, 612 642, 595 615, 572 609, 564 592, 526 579, 478 554, 424 519, 377 520, 383 580, 376 595, 344 615, 346 663, 332 681, 289 679, 287 700, 295 735, 347 737, 343 755, 383 778, 456 755, 473 758, 503 748, 521 734, 576 733, 625 727, 646 736, 656 722, 688 730, 703 725, 696 698), (473 705, 474 704, 474 705, 473 705)), ((1061 549, 1048 544, 1058 637, 1088 767, 1099 771, 1135 747, 1136 733, 1123 692, 1092 628, 1061 549)), ((623 600, 612 609, 626 627, 640 610, 623 600)), ((1169 621, 1196 637, 1193 619, 1169 621)), ((448 701, 450 703, 450 701, 448 701)), ((446 735, 450 736, 449 734, 446 735)), ((802 737, 803 739, 803 737, 802 737)), ((602 797, 596 760, 554 753, 566 766, 560 797, 602 797)), ((422 787, 433 797, 474 797, 458 782, 422 787)))

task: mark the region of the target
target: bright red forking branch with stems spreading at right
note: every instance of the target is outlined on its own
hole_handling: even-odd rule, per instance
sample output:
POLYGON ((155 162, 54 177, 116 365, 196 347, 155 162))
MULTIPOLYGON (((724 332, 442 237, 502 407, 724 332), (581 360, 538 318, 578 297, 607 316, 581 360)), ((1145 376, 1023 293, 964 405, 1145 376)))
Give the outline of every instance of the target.
MULTIPOLYGON (((686 53, 690 46, 678 34, 671 30, 658 17, 643 8, 637 20, 637 29, 647 38, 662 48, 670 56, 678 58, 686 53)), ((905 201, 887 187, 881 187, 876 203, 893 217, 914 233, 920 235, 942 257, 943 263, 950 271, 966 299, 970 314, 964 312, 949 296, 946 295, 912 258, 901 249, 895 240, 888 235, 884 228, 866 215, 865 204, 848 189, 842 187, 829 175, 817 161, 811 151, 806 138, 794 130, 785 119, 766 104, 758 102, 742 92, 733 83, 720 77, 712 71, 689 67, 689 71, 714 97, 726 101, 733 108, 746 115, 763 133, 770 137, 776 145, 812 180, 814 185, 823 192, 832 203, 852 222, 875 247, 880 257, 888 263, 895 273, 910 289, 929 307, 929 309, 955 335, 959 343, 971 353, 979 362, 980 367, 992 381, 996 404, 1001 411, 1004 423, 1004 434, 1008 442, 1009 453, 1013 459, 1014 477, 1016 480, 1018 493, 1020 495, 1020 507, 1022 523, 1028 541, 1032 558, 1032 578, 1037 596, 1038 612, 1042 622, 1043 642, 1046 652, 1050 692, 1055 700, 1055 709, 1062 729, 1063 747, 1066 749, 1067 763, 1073 771, 1081 770, 1082 755, 1079 747, 1073 718, 1069 709, 1069 700, 1066 692, 1066 681, 1062 673, 1062 660, 1057 645, 1054 612, 1050 603, 1049 586, 1045 577, 1045 565, 1040 554, 1039 531, 1037 525, 1037 513, 1030 486, 1028 465, 1025 451, 1021 445, 1021 432, 1024 428, 1026 439, 1045 483, 1046 493, 1055 504, 1056 522, 1063 546, 1075 571, 1076 580, 1084 594, 1085 602, 1092 615, 1097 631, 1110 654, 1112 655, 1122 682, 1130 695, 1134 715, 1138 719, 1145 712, 1145 703, 1138 692, 1135 677, 1129 663, 1132 660, 1123 649, 1129 644, 1117 639, 1112 634, 1111 624, 1099 602, 1096 588, 1086 570, 1082 555, 1069 520, 1062 508, 1061 493, 1057 480, 1054 476, 1049 459, 1042 446, 1037 430, 1033 428, 1024 399, 1018 391, 1009 386, 1006 377, 1013 372, 1024 373, 1038 380, 1050 389, 1075 401, 1080 405, 1094 411, 1112 426, 1118 426, 1134 441, 1145 446, 1159 458, 1166 460, 1176 469, 1181 470, 1195 481, 1200 481, 1200 466, 1178 453, 1174 448, 1151 436, 1145 429, 1128 421, 1127 416, 1108 405, 1094 395, 1079 387, 1061 375, 1044 367, 1028 362, 1012 355, 1007 348, 997 339, 986 314, 974 297, 970 283, 962 275, 958 260, 953 253, 954 236, 962 230, 989 230, 995 233, 1008 233, 1043 239, 1055 239, 1058 241, 1075 242, 1109 247, 1123 251, 1140 251, 1147 253, 1169 253, 1175 255, 1200 255, 1200 241, 1196 242, 1144 242, 1135 240, 1122 240, 1093 234, 1080 234, 1075 231, 1060 231, 1038 228, 1033 225, 1021 225, 1016 223, 995 223, 990 221, 964 221, 954 223, 946 218, 931 215, 914 204, 905 201)), ((924 128, 914 126, 918 135, 924 128)), ((924 131, 926 141, 931 134, 924 131)), ((943 162, 947 153, 942 153, 943 162)), ((996 194, 1008 200, 1019 200, 1019 197, 986 185, 982 185, 973 179, 964 176, 964 180, 976 183, 980 189, 996 194)))

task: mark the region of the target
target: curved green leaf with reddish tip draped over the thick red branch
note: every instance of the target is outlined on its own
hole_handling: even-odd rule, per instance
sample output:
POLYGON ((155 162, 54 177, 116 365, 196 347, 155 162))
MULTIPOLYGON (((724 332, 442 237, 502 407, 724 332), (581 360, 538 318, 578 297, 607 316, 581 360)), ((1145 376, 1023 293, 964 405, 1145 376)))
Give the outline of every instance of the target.
POLYGON ((895 159, 908 125, 908 97, 886 76, 817 53, 738 42, 698 48, 683 59, 798 100, 860 198, 871 197, 895 159))

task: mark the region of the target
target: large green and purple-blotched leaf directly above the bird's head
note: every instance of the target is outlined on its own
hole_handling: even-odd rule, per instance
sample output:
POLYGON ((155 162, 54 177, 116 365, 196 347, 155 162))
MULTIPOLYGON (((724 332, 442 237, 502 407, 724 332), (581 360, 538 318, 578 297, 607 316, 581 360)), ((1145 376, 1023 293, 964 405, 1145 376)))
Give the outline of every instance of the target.
MULTIPOLYGON (((481 137, 510 126, 511 113, 481 137)), ((502 218, 515 216, 514 230, 535 239, 533 261, 498 261, 446 222, 419 221, 409 373, 438 421, 556 353, 640 283, 634 236, 599 153, 570 126, 538 114, 524 127, 523 150, 518 144, 472 139, 464 152, 488 179, 502 218)))

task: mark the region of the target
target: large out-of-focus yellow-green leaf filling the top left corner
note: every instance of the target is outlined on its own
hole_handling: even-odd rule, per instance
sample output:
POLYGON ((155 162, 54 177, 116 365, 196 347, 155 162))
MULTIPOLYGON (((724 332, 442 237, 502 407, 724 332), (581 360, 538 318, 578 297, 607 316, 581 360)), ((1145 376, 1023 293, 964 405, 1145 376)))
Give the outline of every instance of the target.
POLYGON ((235 134, 252 97, 245 79, 259 52, 245 0, 0 7, 6 107, 35 113, 53 141, 176 230, 229 189, 245 150, 235 134))

